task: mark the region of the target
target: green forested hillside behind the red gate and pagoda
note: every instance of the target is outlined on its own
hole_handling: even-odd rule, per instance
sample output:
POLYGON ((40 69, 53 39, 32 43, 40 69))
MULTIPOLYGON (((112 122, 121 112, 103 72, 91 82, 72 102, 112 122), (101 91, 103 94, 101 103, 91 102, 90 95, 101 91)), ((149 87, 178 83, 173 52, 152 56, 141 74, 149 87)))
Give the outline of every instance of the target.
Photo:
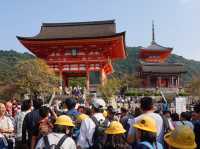
MULTIPOLYGON (((116 61, 114 65, 115 73, 135 73, 136 68, 139 64, 138 53, 139 47, 128 47, 127 48, 128 57, 126 60, 116 61)), ((14 66, 23 60, 34 58, 33 55, 28 53, 18 53, 16 51, 1 51, 0 50, 0 80, 5 79, 5 76, 9 76, 10 73, 14 71, 14 66)), ((173 63, 183 63, 185 64, 184 81, 190 81, 193 75, 200 74, 200 62, 194 60, 185 59, 182 56, 172 54, 168 59, 168 62, 173 63)))

